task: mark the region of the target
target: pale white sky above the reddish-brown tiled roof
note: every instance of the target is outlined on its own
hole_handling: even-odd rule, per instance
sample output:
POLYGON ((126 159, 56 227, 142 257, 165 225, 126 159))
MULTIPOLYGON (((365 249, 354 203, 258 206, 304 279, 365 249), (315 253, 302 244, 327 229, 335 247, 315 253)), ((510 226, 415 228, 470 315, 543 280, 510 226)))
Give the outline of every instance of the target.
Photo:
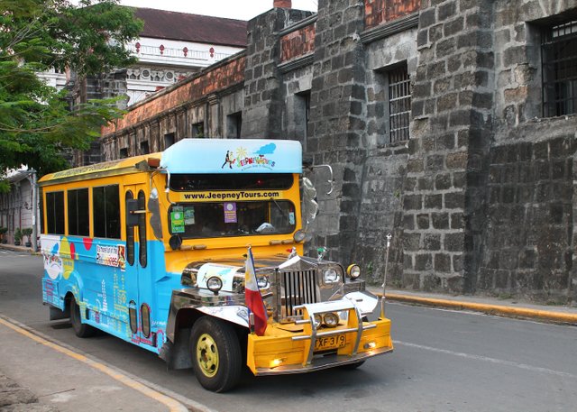
MULTIPOLYGON (((272 8, 273 0, 121 0, 121 5, 251 20, 272 8)), ((316 12, 318 0, 292 0, 292 8, 316 12)))

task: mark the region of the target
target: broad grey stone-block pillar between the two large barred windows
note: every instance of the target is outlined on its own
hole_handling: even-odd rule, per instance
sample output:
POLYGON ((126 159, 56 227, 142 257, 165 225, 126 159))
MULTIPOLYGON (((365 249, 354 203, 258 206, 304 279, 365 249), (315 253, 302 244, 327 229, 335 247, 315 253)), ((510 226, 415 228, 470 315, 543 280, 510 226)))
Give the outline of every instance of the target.
POLYGON ((491 10, 490 0, 423 1, 403 193, 408 287, 475 288, 492 135, 491 10))

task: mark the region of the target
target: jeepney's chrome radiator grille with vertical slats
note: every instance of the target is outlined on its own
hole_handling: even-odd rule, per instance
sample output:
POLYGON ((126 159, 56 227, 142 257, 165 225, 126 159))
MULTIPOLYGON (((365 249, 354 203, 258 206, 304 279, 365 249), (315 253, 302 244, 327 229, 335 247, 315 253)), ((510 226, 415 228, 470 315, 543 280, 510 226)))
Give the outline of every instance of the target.
POLYGON ((297 316, 294 307, 318 301, 316 270, 280 272, 283 291, 281 297, 281 317, 297 316))

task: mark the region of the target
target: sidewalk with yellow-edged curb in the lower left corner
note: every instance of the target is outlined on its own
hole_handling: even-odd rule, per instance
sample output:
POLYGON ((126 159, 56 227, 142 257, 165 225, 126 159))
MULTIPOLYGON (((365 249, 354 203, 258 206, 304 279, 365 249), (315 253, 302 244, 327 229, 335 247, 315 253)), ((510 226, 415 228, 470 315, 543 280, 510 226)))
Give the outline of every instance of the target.
POLYGON ((87 355, 0 316, 0 412, 179 411, 188 408, 87 355))

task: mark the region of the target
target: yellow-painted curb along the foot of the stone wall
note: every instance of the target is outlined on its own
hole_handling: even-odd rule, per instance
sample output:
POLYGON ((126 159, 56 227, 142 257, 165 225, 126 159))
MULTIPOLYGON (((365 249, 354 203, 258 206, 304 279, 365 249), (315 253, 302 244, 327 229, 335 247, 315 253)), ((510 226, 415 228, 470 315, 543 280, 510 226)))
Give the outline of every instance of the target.
MULTIPOLYGON (((382 296, 382 293, 378 295, 382 296)), ((460 300, 420 298, 408 295, 398 295, 396 293, 387 293, 385 297, 389 300, 414 303, 418 305, 426 305, 433 307, 448 307, 452 309, 461 309, 461 310, 468 309, 483 312, 490 315, 530 317, 536 319, 550 320, 554 322, 577 324, 577 314, 567 314, 563 312, 527 309, 526 307, 504 307, 500 305, 463 302, 460 300)))

